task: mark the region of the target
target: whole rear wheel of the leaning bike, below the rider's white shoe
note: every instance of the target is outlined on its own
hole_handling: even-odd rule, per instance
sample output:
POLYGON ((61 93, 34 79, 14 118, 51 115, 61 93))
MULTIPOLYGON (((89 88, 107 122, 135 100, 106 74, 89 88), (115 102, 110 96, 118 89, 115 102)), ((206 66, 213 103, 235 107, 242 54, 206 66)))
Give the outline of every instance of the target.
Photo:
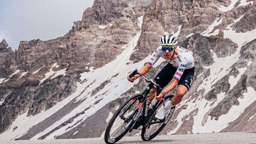
MULTIPOLYGON (((165 100, 171 100, 171 98, 174 95, 167 95, 165 97, 165 100)), ((156 108, 155 111, 152 111, 151 116, 149 117, 149 124, 147 127, 142 128, 141 137, 144 141, 149 141, 156 137, 162 129, 167 125, 169 119, 171 119, 172 113, 174 112, 175 107, 172 107, 171 110, 169 110, 167 116, 165 116, 164 120, 158 120, 155 118, 155 114, 160 110, 161 107, 164 107, 163 102, 161 101, 156 108)))

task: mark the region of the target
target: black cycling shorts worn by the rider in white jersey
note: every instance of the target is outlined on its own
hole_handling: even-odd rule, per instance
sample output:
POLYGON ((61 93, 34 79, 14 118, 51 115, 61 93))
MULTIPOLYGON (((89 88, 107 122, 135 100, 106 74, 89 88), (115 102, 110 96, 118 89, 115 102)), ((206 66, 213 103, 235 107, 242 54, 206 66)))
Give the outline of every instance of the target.
MULTIPOLYGON (((177 68, 172 66, 170 63, 164 66, 164 68, 156 75, 155 81, 160 85, 161 88, 164 88, 171 82, 172 77, 174 76, 177 68)), ((194 67, 190 69, 185 69, 183 75, 181 76, 178 85, 184 85, 187 89, 190 89, 191 82, 194 76, 194 67)))

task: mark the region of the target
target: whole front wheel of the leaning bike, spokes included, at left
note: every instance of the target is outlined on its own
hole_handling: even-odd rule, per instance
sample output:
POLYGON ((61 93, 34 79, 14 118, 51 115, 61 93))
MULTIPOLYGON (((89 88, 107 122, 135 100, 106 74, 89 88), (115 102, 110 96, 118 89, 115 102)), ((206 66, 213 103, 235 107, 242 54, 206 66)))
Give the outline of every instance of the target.
POLYGON ((135 123, 133 118, 136 116, 137 106, 142 100, 142 94, 135 94, 119 107, 105 130, 105 143, 116 143, 121 137, 126 135, 130 127, 135 123))

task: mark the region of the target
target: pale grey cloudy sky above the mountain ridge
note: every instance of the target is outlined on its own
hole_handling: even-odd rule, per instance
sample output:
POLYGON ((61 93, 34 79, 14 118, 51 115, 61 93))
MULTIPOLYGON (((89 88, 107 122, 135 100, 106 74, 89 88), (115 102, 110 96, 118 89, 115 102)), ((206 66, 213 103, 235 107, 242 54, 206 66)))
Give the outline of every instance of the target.
POLYGON ((0 42, 12 50, 22 40, 64 36, 94 0, 0 0, 0 42))

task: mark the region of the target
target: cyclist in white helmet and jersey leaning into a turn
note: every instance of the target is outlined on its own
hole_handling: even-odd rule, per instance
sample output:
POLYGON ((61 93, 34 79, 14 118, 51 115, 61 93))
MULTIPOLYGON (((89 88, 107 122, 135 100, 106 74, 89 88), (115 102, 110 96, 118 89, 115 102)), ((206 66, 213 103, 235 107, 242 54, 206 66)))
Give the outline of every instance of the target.
MULTIPOLYGON (((159 57, 168 61, 168 64, 156 75, 155 81, 164 88, 159 95, 156 95, 156 89, 151 88, 149 92, 149 102, 156 97, 157 100, 172 91, 177 85, 177 92, 174 97, 171 98, 170 103, 165 105, 164 108, 156 114, 156 119, 162 120, 165 117, 165 113, 169 111, 171 107, 181 102, 183 96, 190 89, 191 82, 194 76, 194 57, 193 52, 177 46, 177 37, 172 34, 165 34, 160 39, 160 46, 152 53, 146 65, 139 69, 139 73, 144 75, 152 66, 156 63, 159 57)), ((139 78, 140 75, 135 75, 129 78, 128 81, 132 82, 139 78)))

